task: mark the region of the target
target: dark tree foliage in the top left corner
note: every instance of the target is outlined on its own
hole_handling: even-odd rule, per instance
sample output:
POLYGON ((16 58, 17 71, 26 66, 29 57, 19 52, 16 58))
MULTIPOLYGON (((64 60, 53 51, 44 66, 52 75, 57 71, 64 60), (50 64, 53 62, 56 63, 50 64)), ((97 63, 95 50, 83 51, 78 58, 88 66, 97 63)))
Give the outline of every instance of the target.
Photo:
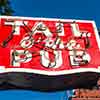
POLYGON ((0 15, 12 15, 14 13, 9 0, 0 0, 0 15))

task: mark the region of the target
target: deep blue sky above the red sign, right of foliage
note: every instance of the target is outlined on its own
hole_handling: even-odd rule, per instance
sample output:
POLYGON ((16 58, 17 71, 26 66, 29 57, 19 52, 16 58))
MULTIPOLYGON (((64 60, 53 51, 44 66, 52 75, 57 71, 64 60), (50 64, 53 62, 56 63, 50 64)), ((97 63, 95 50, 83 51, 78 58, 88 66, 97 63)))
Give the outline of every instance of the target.
POLYGON ((100 0, 10 0, 16 16, 95 20, 100 27, 100 0))

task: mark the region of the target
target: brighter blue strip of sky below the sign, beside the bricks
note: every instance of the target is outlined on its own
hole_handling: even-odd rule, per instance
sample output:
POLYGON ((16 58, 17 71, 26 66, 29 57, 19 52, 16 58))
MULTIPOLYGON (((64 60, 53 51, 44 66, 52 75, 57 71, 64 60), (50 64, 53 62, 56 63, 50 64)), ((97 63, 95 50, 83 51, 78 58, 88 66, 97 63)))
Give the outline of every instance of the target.
POLYGON ((66 91, 37 92, 29 90, 0 91, 0 100, 66 100, 66 91))

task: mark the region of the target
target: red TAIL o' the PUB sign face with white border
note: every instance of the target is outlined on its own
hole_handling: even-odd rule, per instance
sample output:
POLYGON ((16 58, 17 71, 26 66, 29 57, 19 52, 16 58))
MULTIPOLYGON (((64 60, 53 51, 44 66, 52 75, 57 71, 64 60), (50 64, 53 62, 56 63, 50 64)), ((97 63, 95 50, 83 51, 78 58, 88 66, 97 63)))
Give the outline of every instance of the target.
POLYGON ((94 21, 0 17, 0 73, 100 72, 94 21))

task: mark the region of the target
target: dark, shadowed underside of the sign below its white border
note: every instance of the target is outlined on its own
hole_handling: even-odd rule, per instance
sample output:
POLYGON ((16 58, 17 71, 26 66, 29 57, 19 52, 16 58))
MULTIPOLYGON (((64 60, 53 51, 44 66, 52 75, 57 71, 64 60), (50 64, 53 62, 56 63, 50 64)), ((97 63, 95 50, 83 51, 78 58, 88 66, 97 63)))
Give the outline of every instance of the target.
POLYGON ((0 90, 27 89, 38 91, 57 91, 76 88, 91 88, 96 85, 100 74, 94 72, 69 75, 47 76, 32 73, 0 74, 0 90))

